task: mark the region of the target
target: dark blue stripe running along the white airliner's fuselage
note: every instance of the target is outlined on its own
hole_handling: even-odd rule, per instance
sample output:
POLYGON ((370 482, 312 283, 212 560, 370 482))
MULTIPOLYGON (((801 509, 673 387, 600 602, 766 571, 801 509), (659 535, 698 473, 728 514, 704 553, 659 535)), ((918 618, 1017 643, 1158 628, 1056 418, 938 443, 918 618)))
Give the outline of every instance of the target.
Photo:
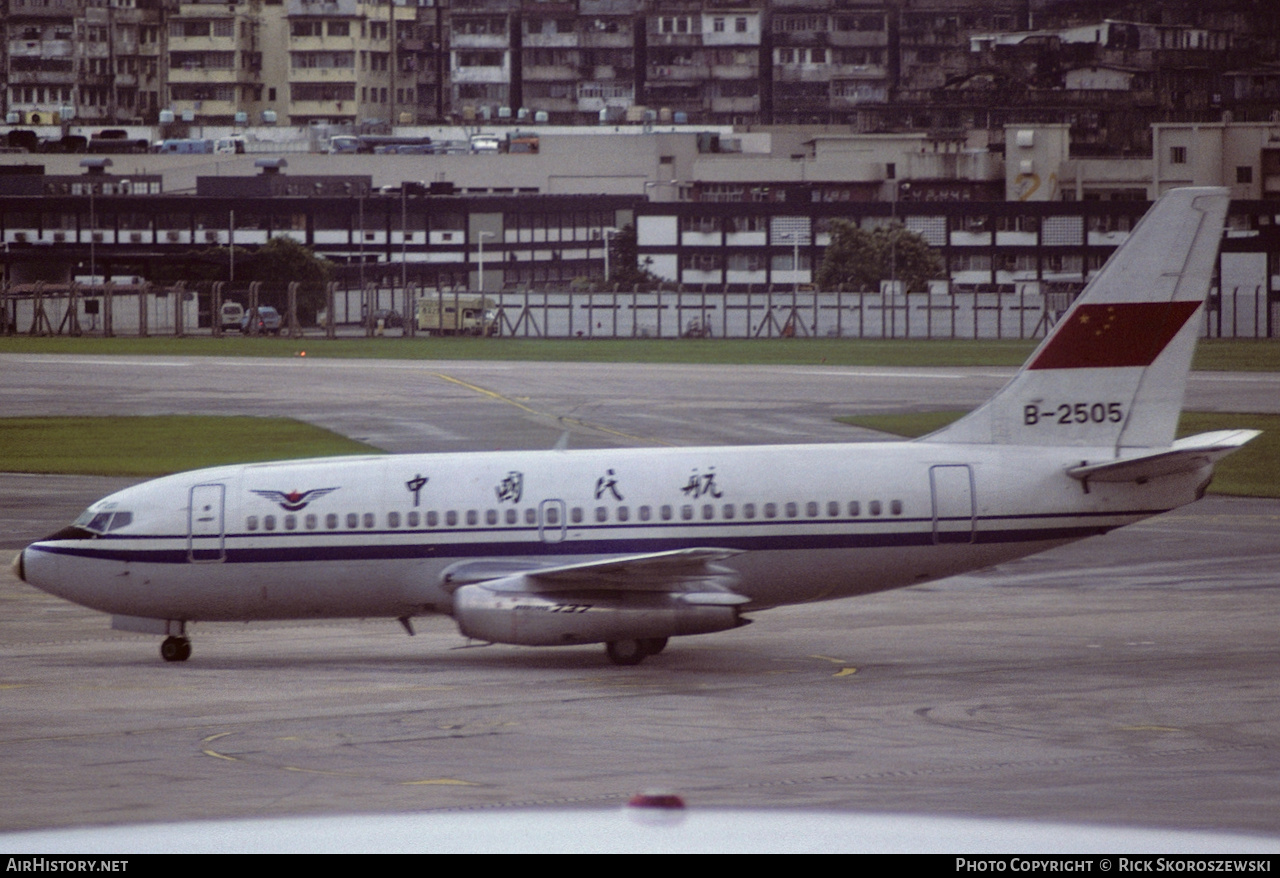
MULTIPOLYGON (((1130 513, 1132 515, 1132 513, 1130 513)), ((1080 518, 1085 516, 1055 516, 1059 518, 1080 518)), ((1028 543, 1037 540, 1073 540, 1105 534, 1120 527, 1128 521, 1128 515, 1107 513, 1108 518, 1120 520, 1111 523, 1071 523, 1056 527, 1001 527, 979 530, 973 536, 977 545, 997 545, 1002 543, 1028 543)), ((968 521, 968 520, 961 520, 968 521)), ((1007 521, 1007 520, 1002 520, 1007 521)), ((896 522, 895 522, 896 523, 896 522)), ((403 536, 403 531, 393 531, 403 536)), ((453 531, 471 532, 477 531, 453 531)), ((946 534, 948 538, 964 536, 968 531, 946 534)), ((371 531, 365 535, 374 535, 371 531)), ((385 534, 381 534, 385 535, 385 534)), ((282 538, 320 536, 319 534, 296 532, 280 534, 282 538)), ((228 543, 234 538, 228 538, 228 543)), ((180 564, 187 563, 187 538, 170 538, 170 547, 154 549, 111 548, 114 540, 77 540, 61 545, 40 545, 33 548, 51 554, 78 558, 99 558, 104 561, 180 564), (174 543, 177 545, 174 545, 174 543)), ((960 543, 964 544, 964 543, 960 543)), ((353 544, 353 545, 275 545, 262 548, 227 547, 223 563, 283 563, 298 561, 412 561, 425 558, 474 558, 474 557, 529 557, 529 555, 613 555, 644 554, 671 549, 687 549, 714 545, 742 552, 783 552, 812 549, 876 549, 934 545, 933 530, 893 531, 879 534, 783 534, 764 536, 666 536, 630 539, 588 539, 544 543, 541 540, 485 540, 460 543, 396 543, 396 544, 353 544)), ((948 543, 947 545, 956 545, 948 543)))

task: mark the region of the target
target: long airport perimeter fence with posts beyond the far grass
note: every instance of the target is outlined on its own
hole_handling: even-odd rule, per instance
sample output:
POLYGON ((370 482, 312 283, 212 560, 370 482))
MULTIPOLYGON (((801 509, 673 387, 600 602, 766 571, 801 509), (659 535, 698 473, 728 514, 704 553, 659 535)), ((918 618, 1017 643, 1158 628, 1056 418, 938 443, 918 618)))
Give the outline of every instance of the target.
MULTIPOLYGON (((426 299, 440 314, 480 308, 488 312, 492 333, 508 338, 1029 339, 1042 338, 1073 297, 1070 292, 1042 293, 1033 284, 1011 292, 893 294, 36 283, 0 288, 0 330, 28 335, 218 337, 241 330, 238 317, 228 325, 220 317, 223 305, 234 303, 244 310, 275 308, 280 315, 278 334, 285 337, 430 335, 417 329, 416 320, 420 302, 426 299)), ((440 324, 435 326, 438 331, 440 324)), ((253 331, 252 324, 248 331, 253 331)), ((1275 293, 1262 288, 1211 293, 1202 335, 1275 338, 1277 333, 1280 297, 1275 293)))

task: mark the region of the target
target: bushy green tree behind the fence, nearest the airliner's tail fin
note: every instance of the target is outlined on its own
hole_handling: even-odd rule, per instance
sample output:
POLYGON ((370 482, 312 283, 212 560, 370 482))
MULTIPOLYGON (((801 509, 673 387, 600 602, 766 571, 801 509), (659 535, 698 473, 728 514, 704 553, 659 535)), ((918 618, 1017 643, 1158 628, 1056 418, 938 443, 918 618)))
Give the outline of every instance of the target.
POLYGON ((822 289, 879 289, 882 280, 899 280, 911 292, 928 289, 928 282, 941 276, 938 252, 901 224, 867 232, 849 220, 836 220, 815 280, 822 289))

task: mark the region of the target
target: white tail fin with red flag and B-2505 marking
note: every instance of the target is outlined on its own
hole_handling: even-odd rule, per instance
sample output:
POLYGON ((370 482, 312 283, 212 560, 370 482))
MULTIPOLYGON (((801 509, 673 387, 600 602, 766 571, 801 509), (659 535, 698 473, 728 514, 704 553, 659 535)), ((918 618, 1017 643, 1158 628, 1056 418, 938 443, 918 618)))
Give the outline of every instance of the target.
POLYGON ((1226 219, 1224 188, 1157 201, 987 404, 924 442, 1166 448, 1226 219))

